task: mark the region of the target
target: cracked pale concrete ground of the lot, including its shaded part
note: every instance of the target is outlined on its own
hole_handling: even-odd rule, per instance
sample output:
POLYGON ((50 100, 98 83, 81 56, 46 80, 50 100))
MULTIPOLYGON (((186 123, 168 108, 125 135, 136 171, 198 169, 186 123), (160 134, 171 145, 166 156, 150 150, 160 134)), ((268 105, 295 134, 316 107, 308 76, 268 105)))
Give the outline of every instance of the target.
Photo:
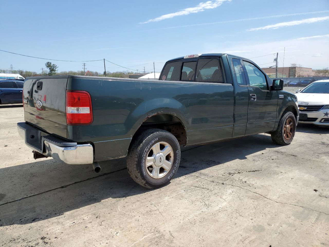
POLYGON ((125 160, 34 160, 22 107, 0 106, 1 246, 329 246, 329 129, 298 126, 182 153, 171 183, 144 189, 125 160))

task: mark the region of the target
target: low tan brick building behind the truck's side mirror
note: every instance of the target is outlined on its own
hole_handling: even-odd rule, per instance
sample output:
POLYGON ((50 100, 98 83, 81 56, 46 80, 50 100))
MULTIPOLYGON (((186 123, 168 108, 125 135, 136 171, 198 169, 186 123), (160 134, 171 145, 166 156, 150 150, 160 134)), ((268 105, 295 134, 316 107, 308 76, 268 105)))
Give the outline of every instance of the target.
MULTIPOLYGON (((264 72, 271 78, 275 78, 275 68, 262 68, 264 72)), ((278 67, 278 77, 312 77, 315 72, 312 68, 305 67, 278 67), (279 75, 280 74, 280 75, 279 75)))

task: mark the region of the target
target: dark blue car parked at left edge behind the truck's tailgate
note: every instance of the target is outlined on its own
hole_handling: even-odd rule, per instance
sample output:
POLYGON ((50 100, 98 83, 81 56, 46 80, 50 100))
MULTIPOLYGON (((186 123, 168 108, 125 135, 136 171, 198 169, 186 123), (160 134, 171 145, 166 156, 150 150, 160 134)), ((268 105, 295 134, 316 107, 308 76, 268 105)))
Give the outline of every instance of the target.
POLYGON ((23 82, 18 80, 0 80, 0 104, 23 103, 23 82))

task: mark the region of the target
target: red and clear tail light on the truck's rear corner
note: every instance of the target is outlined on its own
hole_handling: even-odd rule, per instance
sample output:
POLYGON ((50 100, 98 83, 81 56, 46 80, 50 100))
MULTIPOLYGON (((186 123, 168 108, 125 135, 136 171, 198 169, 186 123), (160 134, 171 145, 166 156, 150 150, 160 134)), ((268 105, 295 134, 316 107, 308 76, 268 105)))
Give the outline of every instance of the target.
POLYGON ((67 125, 88 125, 92 123, 91 98, 86 91, 66 91, 67 125))

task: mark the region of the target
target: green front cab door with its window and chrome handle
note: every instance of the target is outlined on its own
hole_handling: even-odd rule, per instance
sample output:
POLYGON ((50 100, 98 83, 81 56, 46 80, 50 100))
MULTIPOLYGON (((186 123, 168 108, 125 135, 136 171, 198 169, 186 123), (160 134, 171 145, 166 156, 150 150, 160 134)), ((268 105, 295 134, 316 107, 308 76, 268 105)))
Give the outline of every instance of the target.
POLYGON ((246 135, 272 131, 276 121, 278 91, 270 91, 271 80, 251 61, 243 60, 249 105, 246 135))

